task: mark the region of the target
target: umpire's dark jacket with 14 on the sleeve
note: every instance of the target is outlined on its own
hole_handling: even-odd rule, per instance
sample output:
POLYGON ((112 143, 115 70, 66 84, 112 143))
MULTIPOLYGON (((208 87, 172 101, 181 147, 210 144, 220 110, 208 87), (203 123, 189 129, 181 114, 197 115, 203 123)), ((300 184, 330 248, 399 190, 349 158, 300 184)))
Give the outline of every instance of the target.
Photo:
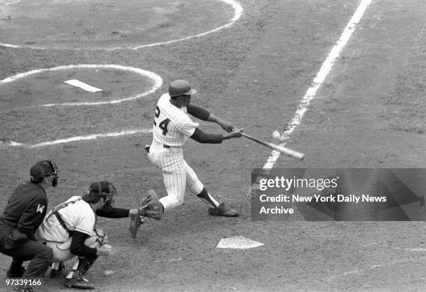
POLYGON ((36 240, 34 233, 46 216, 45 189, 25 181, 13 192, 0 218, 0 241, 4 248, 15 248, 28 240, 36 240))

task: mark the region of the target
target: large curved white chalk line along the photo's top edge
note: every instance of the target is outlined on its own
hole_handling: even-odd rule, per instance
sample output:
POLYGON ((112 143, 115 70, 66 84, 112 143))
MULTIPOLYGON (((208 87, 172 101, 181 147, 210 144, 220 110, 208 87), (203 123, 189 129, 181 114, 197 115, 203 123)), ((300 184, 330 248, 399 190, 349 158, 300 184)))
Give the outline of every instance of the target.
MULTIPOLYGON (((16 1, 16 2, 18 2, 18 1, 16 1)), ((145 48, 145 47, 154 47, 154 46, 159 46, 159 45, 162 45, 162 44, 171 44, 173 42, 181 42, 183 40, 189 40, 191 38, 199 38, 199 37, 202 37, 202 36, 207 35, 209 33, 214 33, 216 31, 220 31, 221 29, 226 29, 227 27, 234 24, 237 21, 237 19, 239 19, 239 17, 241 17, 243 8, 235 0, 219 0, 219 1, 222 1, 222 2, 232 6, 232 8, 234 9, 234 16, 230 19, 230 22, 228 22, 228 24, 225 24, 223 26, 219 26, 216 29, 212 29, 211 31, 206 31, 205 33, 199 33, 197 35, 190 35, 190 36, 185 37, 185 38, 179 38, 179 39, 176 39, 176 40, 169 40, 167 42, 155 42, 153 44, 141 44, 139 46, 134 46, 134 47, 111 47, 111 48, 103 48, 103 49, 105 51, 113 51, 113 50, 118 50, 118 49, 133 49, 133 50, 135 50, 135 49, 141 49, 141 48, 145 48)), ((30 47, 31 49, 51 49, 51 48, 45 48, 45 47, 39 47, 39 46, 21 46, 21 45, 17 45, 17 44, 4 44, 4 43, 1 43, 1 42, 0 42, 0 46, 13 47, 13 48, 30 47)), ((73 48, 73 49, 74 50, 81 50, 81 49, 85 49, 85 48, 73 48)), ((95 49, 98 49, 98 48, 95 48, 95 49)))

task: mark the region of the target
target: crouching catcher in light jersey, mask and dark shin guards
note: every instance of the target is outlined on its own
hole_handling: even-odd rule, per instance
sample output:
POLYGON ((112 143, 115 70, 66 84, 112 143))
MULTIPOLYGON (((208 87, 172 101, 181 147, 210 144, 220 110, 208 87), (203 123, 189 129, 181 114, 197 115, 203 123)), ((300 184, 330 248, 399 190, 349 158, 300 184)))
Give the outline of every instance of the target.
POLYGON ((113 207, 116 188, 108 181, 90 184, 83 196, 73 196, 49 211, 38 228, 39 241, 46 243, 54 253, 50 277, 63 273, 63 261, 78 257, 65 286, 77 289, 95 287, 83 276, 98 256, 106 257, 111 252, 107 236, 95 227, 97 216, 107 218, 126 218, 139 215, 138 209, 113 207))

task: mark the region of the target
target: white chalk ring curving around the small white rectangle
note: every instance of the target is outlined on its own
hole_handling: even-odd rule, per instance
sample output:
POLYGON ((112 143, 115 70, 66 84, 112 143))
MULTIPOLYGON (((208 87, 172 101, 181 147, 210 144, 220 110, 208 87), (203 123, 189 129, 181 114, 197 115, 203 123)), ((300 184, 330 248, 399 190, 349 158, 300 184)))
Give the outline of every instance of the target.
POLYGON ((40 104, 39 106, 95 106, 100 104, 118 104, 120 102, 127 102, 132 99, 138 99, 141 97, 144 97, 146 95, 149 95, 152 92, 155 92, 158 88, 160 88, 161 84, 163 83, 163 79, 161 79, 160 76, 157 74, 142 70, 135 67, 128 67, 128 66, 122 66, 122 65, 97 65, 97 64, 79 64, 79 65, 63 65, 63 66, 57 66, 57 67, 51 67, 51 68, 42 68, 38 70, 32 70, 29 72, 19 73, 15 74, 13 76, 10 76, 6 79, 0 80, 0 86, 5 83, 10 83, 13 81, 16 81, 18 79, 22 79, 28 76, 31 76, 33 74, 38 73, 44 73, 44 72, 53 72, 58 70, 72 70, 72 69, 114 69, 114 70, 122 70, 122 71, 129 71, 134 72, 136 74, 139 74, 141 76, 147 77, 148 79, 152 80, 152 88, 148 91, 145 91, 139 95, 134 95, 132 97, 126 97, 123 99, 114 99, 109 100, 107 102, 64 102, 62 104, 40 104))

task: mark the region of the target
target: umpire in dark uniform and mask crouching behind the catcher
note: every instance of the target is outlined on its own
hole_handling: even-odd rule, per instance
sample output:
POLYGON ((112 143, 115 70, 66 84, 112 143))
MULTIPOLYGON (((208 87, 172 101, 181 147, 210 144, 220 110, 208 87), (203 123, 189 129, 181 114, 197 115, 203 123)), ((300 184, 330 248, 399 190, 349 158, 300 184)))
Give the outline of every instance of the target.
POLYGON ((58 184, 53 161, 38 161, 31 167, 30 181, 19 184, 0 218, 0 252, 12 257, 6 277, 45 277, 53 252, 36 241, 34 233, 47 210, 46 189, 58 184), (24 261, 30 261, 25 268, 24 261))

